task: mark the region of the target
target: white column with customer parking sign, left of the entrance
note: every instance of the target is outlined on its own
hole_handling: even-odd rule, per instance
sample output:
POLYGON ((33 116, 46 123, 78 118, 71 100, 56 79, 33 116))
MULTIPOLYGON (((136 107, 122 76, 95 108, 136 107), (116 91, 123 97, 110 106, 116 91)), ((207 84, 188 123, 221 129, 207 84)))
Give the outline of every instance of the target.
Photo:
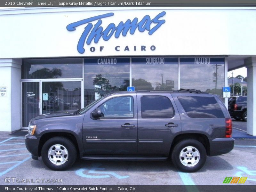
POLYGON ((21 59, 0 59, 0 89, 6 90, 0 95, 0 131, 13 132, 21 127, 20 79, 21 59))

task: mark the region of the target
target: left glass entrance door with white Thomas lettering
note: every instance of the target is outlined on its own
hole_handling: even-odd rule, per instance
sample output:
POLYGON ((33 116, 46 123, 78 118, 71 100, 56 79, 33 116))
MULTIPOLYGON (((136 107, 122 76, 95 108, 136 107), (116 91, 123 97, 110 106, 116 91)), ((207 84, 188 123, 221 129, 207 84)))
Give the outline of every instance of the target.
POLYGON ((22 82, 22 127, 40 115, 40 82, 22 82))

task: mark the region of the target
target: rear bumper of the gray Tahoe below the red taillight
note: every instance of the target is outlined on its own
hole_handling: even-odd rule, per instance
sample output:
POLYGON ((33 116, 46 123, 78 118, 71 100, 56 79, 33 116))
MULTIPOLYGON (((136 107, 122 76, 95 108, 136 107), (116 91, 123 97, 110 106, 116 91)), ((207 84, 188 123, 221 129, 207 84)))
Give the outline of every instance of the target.
POLYGON ((233 138, 215 138, 209 142, 210 156, 216 156, 230 152, 234 148, 235 140, 233 138))

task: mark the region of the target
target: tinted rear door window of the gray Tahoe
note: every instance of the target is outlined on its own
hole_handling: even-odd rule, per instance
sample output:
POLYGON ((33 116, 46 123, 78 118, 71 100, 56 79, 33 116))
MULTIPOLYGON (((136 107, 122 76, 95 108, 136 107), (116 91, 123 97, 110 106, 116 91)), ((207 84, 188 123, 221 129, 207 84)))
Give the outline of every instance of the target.
POLYGON ((171 118, 174 114, 171 101, 164 96, 142 96, 142 118, 171 118))

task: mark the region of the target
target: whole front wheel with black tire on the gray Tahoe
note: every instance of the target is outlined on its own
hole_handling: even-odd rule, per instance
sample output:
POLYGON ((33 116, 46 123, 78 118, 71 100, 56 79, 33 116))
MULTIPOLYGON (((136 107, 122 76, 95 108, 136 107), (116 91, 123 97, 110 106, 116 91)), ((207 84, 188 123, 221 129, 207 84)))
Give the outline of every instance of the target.
POLYGON ((74 143, 68 138, 53 137, 44 143, 41 151, 41 155, 42 155, 43 162, 47 167, 55 171, 63 171, 68 169, 75 163, 77 151, 74 143), (56 145, 56 148, 53 147, 55 145, 56 145), (60 150, 57 149, 58 147, 60 147, 60 150), (52 149, 52 151, 55 148, 54 152, 55 150, 58 151, 58 153, 54 153, 54 154, 57 155, 56 156, 57 158, 60 158, 61 160, 63 160, 63 162, 60 162, 61 160, 57 160, 57 158, 55 158, 55 155, 48 156, 48 151, 50 150, 50 148, 52 149), (64 155, 64 153, 66 153, 67 155, 64 155), (52 161, 50 159, 52 159, 52 161), (56 161, 54 162, 55 159, 56 161))

